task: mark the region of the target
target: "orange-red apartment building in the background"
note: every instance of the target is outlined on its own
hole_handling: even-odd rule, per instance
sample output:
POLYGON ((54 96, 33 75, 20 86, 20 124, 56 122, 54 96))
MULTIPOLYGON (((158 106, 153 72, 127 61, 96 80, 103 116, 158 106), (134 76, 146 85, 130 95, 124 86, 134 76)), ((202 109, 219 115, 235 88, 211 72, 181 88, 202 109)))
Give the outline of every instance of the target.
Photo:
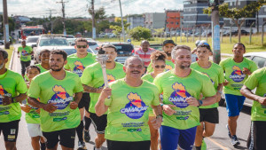
POLYGON ((182 26, 183 11, 166 10, 166 30, 176 30, 182 26))

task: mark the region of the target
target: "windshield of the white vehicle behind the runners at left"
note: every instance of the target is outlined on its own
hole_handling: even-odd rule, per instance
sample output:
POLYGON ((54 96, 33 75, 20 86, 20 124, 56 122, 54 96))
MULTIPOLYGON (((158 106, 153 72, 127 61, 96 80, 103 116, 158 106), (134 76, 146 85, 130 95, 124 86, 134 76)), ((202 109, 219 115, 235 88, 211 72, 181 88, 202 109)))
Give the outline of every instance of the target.
POLYGON ((40 46, 68 46, 65 38, 51 38, 51 39, 41 39, 40 46))

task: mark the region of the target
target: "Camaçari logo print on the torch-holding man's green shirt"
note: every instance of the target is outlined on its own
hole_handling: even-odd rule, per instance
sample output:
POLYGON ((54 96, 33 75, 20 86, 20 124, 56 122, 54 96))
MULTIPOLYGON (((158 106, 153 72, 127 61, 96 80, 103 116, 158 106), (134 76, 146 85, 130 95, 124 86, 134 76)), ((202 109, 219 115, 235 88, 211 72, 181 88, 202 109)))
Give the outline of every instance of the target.
POLYGON ((121 108, 121 114, 126 114, 131 119, 139 119, 145 114, 148 107, 137 93, 129 92, 129 103, 124 108, 121 108))

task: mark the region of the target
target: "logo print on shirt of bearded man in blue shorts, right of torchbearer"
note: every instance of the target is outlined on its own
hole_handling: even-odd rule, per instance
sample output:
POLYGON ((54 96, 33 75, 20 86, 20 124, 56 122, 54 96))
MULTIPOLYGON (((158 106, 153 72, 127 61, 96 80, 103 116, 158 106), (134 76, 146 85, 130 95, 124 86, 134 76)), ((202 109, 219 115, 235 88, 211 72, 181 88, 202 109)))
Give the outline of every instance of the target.
POLYGON ((185 91, 184 85, 182 83, 173 83, 172 88, 174 92, 171 94, 168 100, 172 102, 176 107, 188 107, 189 105, 185 101, 185 99, 191 97, 191 94, 185 91))

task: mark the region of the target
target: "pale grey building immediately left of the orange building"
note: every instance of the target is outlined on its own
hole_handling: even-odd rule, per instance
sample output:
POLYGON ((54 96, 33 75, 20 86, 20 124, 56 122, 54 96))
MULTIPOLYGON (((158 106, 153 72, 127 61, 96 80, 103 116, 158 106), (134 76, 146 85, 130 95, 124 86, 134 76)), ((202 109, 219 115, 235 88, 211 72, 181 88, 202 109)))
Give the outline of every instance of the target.
POLYGON ((145 13, 145 28, 165 28, 165 12, 145 13))

